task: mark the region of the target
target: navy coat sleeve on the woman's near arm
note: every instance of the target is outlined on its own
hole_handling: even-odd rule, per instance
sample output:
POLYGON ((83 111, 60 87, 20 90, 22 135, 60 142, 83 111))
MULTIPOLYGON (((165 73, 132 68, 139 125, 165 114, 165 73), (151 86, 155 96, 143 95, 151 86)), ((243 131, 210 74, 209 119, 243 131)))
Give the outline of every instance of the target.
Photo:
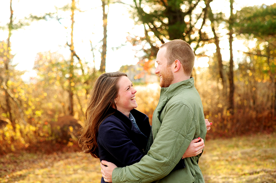
POLYGON ((115 119, 101 124, 98 142, 123 165, 139 162, 144 156, 132 142, 122 123, 115 119))

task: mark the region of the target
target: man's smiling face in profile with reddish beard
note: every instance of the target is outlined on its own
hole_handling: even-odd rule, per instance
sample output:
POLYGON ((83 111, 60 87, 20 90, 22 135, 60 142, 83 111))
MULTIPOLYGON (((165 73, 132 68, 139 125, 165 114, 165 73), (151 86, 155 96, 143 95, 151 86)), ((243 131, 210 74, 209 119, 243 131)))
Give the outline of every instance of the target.
POLYGON ((155 69, 155 74, 158 74, 160 77, 159 85, 163 88, 169 87, 174 80, 174 75, 171 71, 171 66, 167 65, 166 47, 159 49, 156 56, 157 67, 155 69))

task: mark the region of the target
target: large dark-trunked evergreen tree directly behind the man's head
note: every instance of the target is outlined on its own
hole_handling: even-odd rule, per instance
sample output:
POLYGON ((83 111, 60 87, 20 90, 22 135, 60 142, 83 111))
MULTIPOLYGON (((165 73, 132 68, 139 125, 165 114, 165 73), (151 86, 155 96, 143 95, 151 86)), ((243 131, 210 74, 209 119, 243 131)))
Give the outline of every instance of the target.
POLYGON ((194 42, 196 49, 209 41, 208 35, 201 29, 205 25, 210 2, 212 0, 133 1, 132 18, 136 24, 144 25, 145 36, 130 35, 128 41, 143 46, 144 58, 155 57, 159 45, 168 39, 194 42))

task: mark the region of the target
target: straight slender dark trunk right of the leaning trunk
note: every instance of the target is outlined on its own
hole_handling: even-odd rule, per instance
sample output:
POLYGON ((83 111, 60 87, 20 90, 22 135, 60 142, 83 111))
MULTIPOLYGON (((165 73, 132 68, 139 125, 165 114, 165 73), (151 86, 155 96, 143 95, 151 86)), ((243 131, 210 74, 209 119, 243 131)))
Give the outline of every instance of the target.
POLYGON ((232 42, 233 42, 233 1, 230 0, 230 18, 229 18, 229 45, 230 45, 230 67, 229 67, 229 111, 230 114, 233 114, 234 109, 234 74, 233 74, 233 48, 232 48, 232 42))

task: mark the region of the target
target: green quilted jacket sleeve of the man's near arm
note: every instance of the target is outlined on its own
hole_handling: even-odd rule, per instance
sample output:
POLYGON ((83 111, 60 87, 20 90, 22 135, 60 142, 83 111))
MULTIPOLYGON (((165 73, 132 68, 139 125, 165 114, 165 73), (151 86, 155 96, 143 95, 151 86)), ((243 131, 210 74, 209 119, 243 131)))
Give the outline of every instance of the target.
POLYGON ((112 182, 147 183, 168 175, 194 138, 196 125, 193 117, 194 114, 187 105, 171 104, 148 154, 131 166, 115 168, 112 182))

